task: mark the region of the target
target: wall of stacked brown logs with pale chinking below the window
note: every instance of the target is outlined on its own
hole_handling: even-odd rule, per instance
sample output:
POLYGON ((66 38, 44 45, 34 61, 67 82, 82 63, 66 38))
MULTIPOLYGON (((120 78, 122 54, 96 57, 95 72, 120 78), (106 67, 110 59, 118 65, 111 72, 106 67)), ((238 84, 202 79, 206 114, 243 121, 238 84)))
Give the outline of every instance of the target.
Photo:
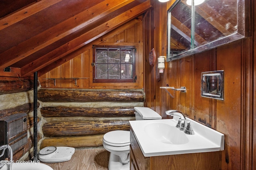
POLYGON ((44 136, 40 148, 98 147, 106 132, 130 129, 134 107, 144 105, 144 91, 40 89, 38 100, 44 136))

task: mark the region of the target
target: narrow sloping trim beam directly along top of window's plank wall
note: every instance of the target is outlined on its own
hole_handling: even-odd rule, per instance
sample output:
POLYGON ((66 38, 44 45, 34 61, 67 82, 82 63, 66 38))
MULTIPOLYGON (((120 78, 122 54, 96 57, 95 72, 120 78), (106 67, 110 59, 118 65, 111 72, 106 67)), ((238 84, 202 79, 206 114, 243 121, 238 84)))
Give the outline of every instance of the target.
POLYGON ((116 28, 115 30, 101 36, 100 38, 97 38, 93 42, 90 42, 90 43, 84 45, 83 47, 77 49, 76 51, 73 51, 72 53, 69 53, 68 55, 65 55, 64 57, 54 61, 53 63, 50 63, 49 65, 47 65, 47 66, 43 67, 42 69, 40 69, 39 71, 37 71, 38 77, 44 75, 45 73, 47 73, 48 71, 51 71, 54 68, 66 63, 67 61, 69 61, 70 59, 73 59, 74 57, 80 55, 84 51, 87 51, 88 49, 92 48, 92 45, 97 45, 99 43, 102 43, 105 40, 107 40, 108 38, 111 38, 112 36, 114 36, 116 34, 119 34, 120 32, 123 32, 124 30, 130 28, 131 26, 133 26, 133 25, 135 25, 135 24, 137 24, 138 22, 141 22, 141 21, 142 21, 142 16, 134 18, 133 20, 131 20, 129 22, 126 22, 122 26, 116 28))

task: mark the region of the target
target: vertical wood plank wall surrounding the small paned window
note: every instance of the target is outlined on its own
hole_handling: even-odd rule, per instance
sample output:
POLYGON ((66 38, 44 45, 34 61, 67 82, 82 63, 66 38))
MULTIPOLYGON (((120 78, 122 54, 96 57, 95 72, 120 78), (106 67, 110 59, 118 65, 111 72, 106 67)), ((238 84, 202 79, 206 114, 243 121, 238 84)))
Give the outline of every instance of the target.
POLYGON ((56 67, 52 71, 38 78, 43 88, 73 88, 73 89, 120 89, 132 88, 142 89, 144 85, 143 72, 143 34, 142 34, 142 16, 131 20, 130 22, 116 28, 112 32, 94 40, 86 45, 77 57, 67 61, 66 63, 56 67), (92 45, 132 45, 136 46, 136 75, 135 83, 92 83, 92 45), (77 85, 73 79, 56 79, 54 81, 49 78, 88 78, 77 79, 77 85))

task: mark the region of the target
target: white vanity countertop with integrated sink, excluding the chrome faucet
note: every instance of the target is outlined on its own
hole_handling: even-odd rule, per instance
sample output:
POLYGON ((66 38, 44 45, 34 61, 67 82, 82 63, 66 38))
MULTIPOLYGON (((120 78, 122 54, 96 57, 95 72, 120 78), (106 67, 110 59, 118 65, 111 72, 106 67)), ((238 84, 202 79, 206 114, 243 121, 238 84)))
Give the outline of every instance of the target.
POLYGON ((195 134, 176 128, 176 119, 129 121, 144 156, 163 156, 224 150, 224 134, 192 119, 195 134))

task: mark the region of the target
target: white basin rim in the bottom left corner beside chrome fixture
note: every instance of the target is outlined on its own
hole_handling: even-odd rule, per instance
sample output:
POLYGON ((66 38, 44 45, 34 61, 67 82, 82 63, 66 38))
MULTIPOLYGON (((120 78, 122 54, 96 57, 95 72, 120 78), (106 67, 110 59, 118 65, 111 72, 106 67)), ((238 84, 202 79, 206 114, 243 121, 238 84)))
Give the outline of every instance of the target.
MULTIPOLYGON (((8 166, 5 164, 1 170, 7 170, 8 166)), ((50 166, 42 163, 33 162, 19 162, 12 164, 12 170, 53 170, 50 166)))

